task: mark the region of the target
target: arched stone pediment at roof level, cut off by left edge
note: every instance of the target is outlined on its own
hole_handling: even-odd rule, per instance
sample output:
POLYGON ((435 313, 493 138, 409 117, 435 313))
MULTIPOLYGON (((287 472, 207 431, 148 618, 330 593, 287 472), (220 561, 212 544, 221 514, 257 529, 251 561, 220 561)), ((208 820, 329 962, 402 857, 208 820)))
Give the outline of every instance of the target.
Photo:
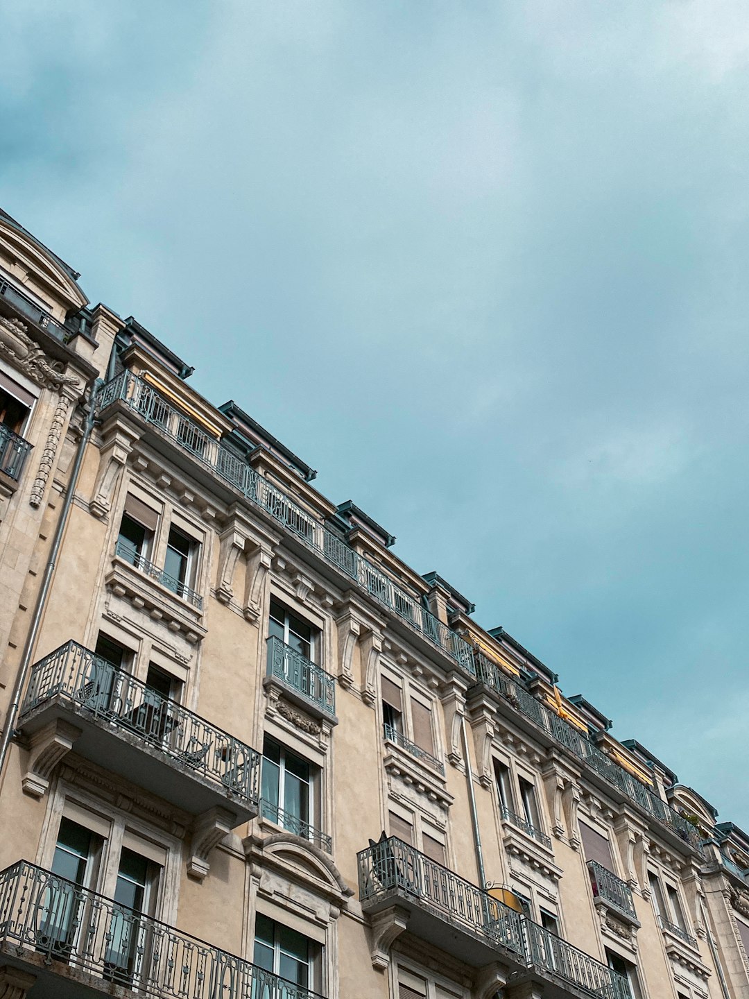
POLYGON ((88 299, 62 264, 28 233, 0 218, 0 259, 31 292, 64 312, 78 311, 88 299), (26 277, 23 277, 23 274, 26 277))

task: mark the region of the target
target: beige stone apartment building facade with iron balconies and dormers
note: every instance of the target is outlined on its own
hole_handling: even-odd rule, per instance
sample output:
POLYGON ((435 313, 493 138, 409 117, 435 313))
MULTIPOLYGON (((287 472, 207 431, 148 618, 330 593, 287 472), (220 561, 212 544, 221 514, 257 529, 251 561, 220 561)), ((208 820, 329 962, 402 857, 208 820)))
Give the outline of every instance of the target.
POLYGON ((749 837, 78 279, 0 213, 0 997, 749 997, 749 837))

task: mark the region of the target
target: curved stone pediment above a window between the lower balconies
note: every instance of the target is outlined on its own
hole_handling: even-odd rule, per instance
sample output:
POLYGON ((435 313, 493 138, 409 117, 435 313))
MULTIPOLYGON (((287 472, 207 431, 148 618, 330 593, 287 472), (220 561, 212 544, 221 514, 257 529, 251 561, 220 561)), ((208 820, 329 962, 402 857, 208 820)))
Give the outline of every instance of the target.
POLYGON ((332 858, 324 850, 291 833, 248 836, 245 856, 263 867, 270 867, 309 891, 343 907, 354 894, 332 858))

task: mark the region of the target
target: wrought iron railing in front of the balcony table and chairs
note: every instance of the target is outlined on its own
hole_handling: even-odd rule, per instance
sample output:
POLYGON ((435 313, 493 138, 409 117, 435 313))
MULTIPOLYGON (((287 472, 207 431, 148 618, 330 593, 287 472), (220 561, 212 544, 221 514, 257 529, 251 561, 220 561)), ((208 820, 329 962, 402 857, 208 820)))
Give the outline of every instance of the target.
POLYGON ((32 666, 21 722, 54 697, 81 714, 140 736, 196 775, 257 805, 261 757, 255 749, 76 641, 32 666))

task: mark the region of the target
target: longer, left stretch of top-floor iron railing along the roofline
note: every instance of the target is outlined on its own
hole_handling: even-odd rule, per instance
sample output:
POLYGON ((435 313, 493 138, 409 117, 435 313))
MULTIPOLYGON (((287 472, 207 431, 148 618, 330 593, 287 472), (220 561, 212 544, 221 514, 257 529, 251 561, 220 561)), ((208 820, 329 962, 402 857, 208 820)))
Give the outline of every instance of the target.
POLYGON ((103 413, 117 402, 137 413, 174 445, 265 510, 409 628, 473 674, 472 649, 464 638, 443 624, 418 599, 396 585, 343 537, 311 516, 260 476, 247 461, 180 413, 147 382, 128 371, 118 375, 101 390, 98 410, 103 413))

